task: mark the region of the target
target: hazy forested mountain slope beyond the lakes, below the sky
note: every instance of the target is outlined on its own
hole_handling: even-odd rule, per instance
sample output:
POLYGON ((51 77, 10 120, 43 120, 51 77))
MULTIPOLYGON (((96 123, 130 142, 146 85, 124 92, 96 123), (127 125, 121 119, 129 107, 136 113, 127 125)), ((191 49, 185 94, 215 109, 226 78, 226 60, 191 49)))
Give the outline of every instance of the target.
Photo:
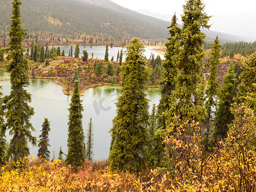
MULTIPOLYGON (((133 37, 166 40, 167 26, 170 26, 166 20, 143 15, 110 0, 22 0, 22 3, 22 26, 28 32, 63 35, 86 33, 116 40, 133 37)), ((0 30, 8 31, 12 0, 0 0, 0 4, 0 30)), ((208 42, 212 42, 217 34, 222 42, 252 41, 216 31, 204 32, 208 42)))

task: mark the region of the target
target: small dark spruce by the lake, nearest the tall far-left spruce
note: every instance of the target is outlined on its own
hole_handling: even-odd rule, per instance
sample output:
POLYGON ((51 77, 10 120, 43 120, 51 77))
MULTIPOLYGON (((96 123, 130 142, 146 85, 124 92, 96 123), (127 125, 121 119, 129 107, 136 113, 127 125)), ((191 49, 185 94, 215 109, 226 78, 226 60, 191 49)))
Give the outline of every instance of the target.
POLYGON ((41 134, 39 136, 40 141, 38 143, 38 154, 37 156, 41 159, 46 159, 49 161, 51 152, 48 150, 49 144, 49 132, 51 131, 50 122, 47 118, 44 118, 44 123, 42 124, 41 134))

